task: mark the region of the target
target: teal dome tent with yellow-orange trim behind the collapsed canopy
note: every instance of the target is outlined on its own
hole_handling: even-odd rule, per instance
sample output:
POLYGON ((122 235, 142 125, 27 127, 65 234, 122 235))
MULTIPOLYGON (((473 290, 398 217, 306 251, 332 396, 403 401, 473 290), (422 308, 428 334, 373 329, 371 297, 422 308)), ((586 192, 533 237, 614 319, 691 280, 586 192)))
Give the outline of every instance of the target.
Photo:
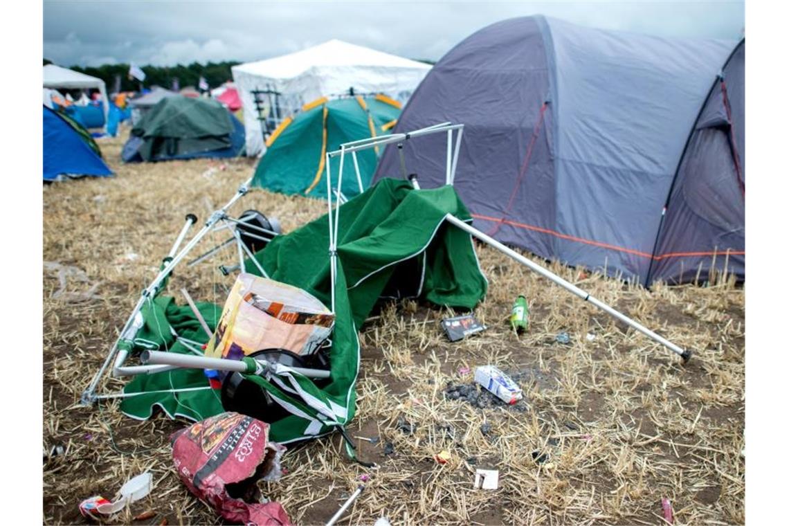
MULTIPOLYGON (((267 150, 257 165, 252 186, 286 194, 326 197, 326 152, 353 140, 386 135, 400 115, 400 104, 385 95, 318 99, 306 104, 293 118, 286 118, 266 142, 267 150)), ((359 151, 357 161, 361 187, 368 188, 376 171, 374 150, 359 151)), ((339 159, 331 160, 336 181, 339 159)), ((342 169, 342 194, 356 196, 357 180, 350 158, 342 169)))

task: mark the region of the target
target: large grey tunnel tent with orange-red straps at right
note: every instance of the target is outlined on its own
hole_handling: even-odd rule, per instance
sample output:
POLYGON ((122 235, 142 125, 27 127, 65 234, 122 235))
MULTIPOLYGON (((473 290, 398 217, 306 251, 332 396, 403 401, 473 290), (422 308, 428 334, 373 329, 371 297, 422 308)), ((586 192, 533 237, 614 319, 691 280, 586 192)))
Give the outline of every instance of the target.
MULTIPOLYGON (((645 285, 688 282, 697 272, 703 279, 713 260, 744 278, 742 231, 720 235, 694 205, 675 211, 683 200, 669 199, 689 188, 696 199, 706 192, 716 213, 732 215, 719 226, 737 227, 727 209, 742 211, 742 195, 733 202, 715 186, 723 176, 712 173, 731 154, 720 138, 703 157, 710 141, 689 141, 704 125, 697 117, 734 47, 540 16, 492 24, 441 58, 393 130, 465 125, 454 181, 435 155, 446 139, 432 136, 419 151, 409 141, 402 150, 388 147, 373 182, 402 177, 402 154, 423 188, 452 182, 479 229, 538 256, 645 285), (699 162, 712 170, 701 182, 699 162)), ((742 108, 743 81, 726 81, 730 98, 739 97, 732 108, 742 108)), ((741 133, 742 125, 733 129, 741 133)))

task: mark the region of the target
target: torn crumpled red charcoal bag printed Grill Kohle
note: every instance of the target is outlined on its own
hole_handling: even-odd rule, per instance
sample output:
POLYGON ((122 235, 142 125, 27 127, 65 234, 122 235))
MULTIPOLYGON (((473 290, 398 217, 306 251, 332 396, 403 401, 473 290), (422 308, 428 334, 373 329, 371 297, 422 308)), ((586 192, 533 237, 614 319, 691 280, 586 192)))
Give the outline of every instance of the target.
POLYGON ((189 491, 222 517, 242 524, 290 526, 279 502, 260 503, 257 480, 282 476, 285 446, 268 442, 268 424, 223 412, 172 435, 173 461, 189 491))

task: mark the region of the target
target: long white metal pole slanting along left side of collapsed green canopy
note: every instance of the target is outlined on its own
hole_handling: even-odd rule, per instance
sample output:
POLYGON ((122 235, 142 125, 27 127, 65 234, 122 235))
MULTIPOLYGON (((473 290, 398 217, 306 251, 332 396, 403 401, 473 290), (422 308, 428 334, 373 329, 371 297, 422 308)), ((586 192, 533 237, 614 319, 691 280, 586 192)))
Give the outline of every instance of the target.
POLYGON ((107 367, 110 367, 110 364, 112 363, 115 355, 118 353, 118 344, 121 342, 121 339, 134 338, 136 334, 136 330, 134 330, 132 334, 132 331, 129 331, 129 329, 133 326, 134 319, 137 313, 140 312, 140 309, 143 307, 145 301, 152 300, 153 297, 155 297, 159 289, 159 285, 162 285, 162 282, 164 282, 164 280, 170 275, 170 273, 173 271, 176 265, 178 265, 178 263, 181 263, 181 259, 184 259, 186 255, 189 254, 189 252, 195 247, 195 245, 199 243, 200 240, 203 239, 203 237, 205 237, 205 235, 211 231, 211 229, 215 226, 215 224, 219 222, 220 219, 225 217, 226 215, 225 212, 227 211, 228 208, 232 207, 237 200, 241 199, 241 197, 245 196, 246 193, 249 192, 249 184, 251 182, 252 182, 252 177, 250 177, 247 181, 245 181, 244 184, 239 186, 235 195, 225 204, 225 206, 223 206, 222 208, 211 214, 211 216, 205 222, 203 228, 201 228, 200 231, 194 235, 194 237, 189 241, 189 243, 186 244, 184 248, 181 248, 178 254, 173 256, 172 259, 170 259, 170 261, 166 263, 164 268, 159 271, 159 274, 157 274, 154 280, 151 282, 151 285, 148 285, 148 288, 143 290, 142 294, 140 294, 140 299, 137 300, 137 303, 132 311, 132 314, 129 315, 129 319, 126 320, 126 323, 123 326, 123 330, 121 331, 120 336, 118 336, 118 338, 115 340, 114 344, 110 348, 110 352, 107 353, 107 358, 104 360, 104 363, 99 368, 99 371, 97 371, 96 374, 93 376, 93 379, 88 385, 88 388, 84 390, 84 392, 82 393, 82 396, 80 397, 80 402, 83 405, 91 405, 92 402, 95 400, 96 387, 99 386, 99 382, 101 381, 104 373, 107 371, 107 367))

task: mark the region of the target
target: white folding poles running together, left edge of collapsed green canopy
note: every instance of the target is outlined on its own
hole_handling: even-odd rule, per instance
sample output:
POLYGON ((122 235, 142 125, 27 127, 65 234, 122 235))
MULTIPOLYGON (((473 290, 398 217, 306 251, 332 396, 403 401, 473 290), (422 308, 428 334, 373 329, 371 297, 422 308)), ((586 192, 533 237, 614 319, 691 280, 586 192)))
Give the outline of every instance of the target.
MULTIPOLYGON (((82 396, 80 397, 80 402, 83 405, 92 405, 92 403, 96 400, 95 390, 99 386, 99 382, 101 381, 104 373, 107 371, 107 368, 110 367, 110 364, 113 362, 115 355, 118 354, 118 349, 120 349, 119 344, 121 343, 121 340, 133 340, 134 337, 136 336, 137 330, 139 330, 140 328, 140 326, 136 326, 135 324, 136 316, 143 308, 145 301, 152 300, 156 296, 156 293, 159 290, 159 286, 162 285, 164 280, 170 275, 170 273, 173 271, 176 265, 178 265, 178 263, 181 262, 181 259, 184 259, 187 256, 187 254, 191 252, 191 250, 195 247, 195 245, 198 242, 200 242, 200 240, 203 239, 203 237, 205 237, 207 233, 211 231, 211 229, 216 225, 217 222, 219 222, 222 218, 226 217, 226 211, 230 207, 232 207, 237 200, 241 199, 241 197, 245 196, 246 193, 249 192, 249 185, 251 183, 252 183, 252 177, 250 177, 247 181, 245 181, 245 183, 239 186, 237 192, 225 204, 225 206, 223 206, 217 211, 214 211, 214 213, 212 213, 211 216, 208 218, 208 220, 205 222, 203 228, 201 228, 200 231, 196 233, 191 240, 189 240, 189 243, 187 243, 184 248, 181 248, 181 250, 178 251, 178 247, 180 246, 181 242, 185 238, 186 235, 185 231, 188 230, 188 228, 185 225, 184 228, 181 229, 181 233, 178 234, 178 239, 176 239, 176 243, 174 243, 173 248, 170 250, 170 254, 174 254, 174 256, 171 257, 168 256, 165 259, 167 263, 164 265, 164 268, 159 271, 159 274, 157 274, 156 277, 153 279, 151 285, 148 285, 148 287, 144 289, 143 292, 140 294, 140 299, 137 300, 137 303, 134 306, 131 315, 129 315, 129 319, 126 320, 126 323, 124 324, 123 329, 121 330, 120 336, 116 338, 114 344, 110 348, 110 352, 107 353, 107 358, 105 358, 104 363, 99 368, 99 371, 97 371, 96 374, 93 376, 93 379, 88 385, 88 388, 83 391, 82 396), (176 251, 178 251, 177 254, 175 254, 176 251)), ((196 219, 194 215, 186 216, 186 221, 188 224, 192 222, 192 218, 196 219)), ((191 226, 191 224, 189 224, 189 226, 191 226)), ((123 349, 123 352, 119 354, 118 360, 116 360, 113 367, 114 375, 116 376, 122 375, 122 371, 118 371, 118 369, 122 370, 123 361, 125 360, 125 357, 127 355, 128 352, 125 349, 123 349)))

